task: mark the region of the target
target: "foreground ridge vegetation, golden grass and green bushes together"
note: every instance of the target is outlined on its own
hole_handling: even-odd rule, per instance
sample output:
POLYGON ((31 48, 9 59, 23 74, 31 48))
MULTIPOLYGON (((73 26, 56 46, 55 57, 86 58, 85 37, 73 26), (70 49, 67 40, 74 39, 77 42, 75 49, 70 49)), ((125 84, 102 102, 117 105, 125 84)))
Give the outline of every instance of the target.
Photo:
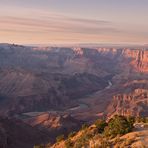
MULTIPOLYGON (((133 138, 123 139, 123 135, 131 132, 134 128, 134 123, 147 122, 148 118, 141 117, 125 117, 115 115, 108 122, 98 119, 93 125, 82 125, 79 132, 71 132, 67 138, 64 135, 57 137, 57 142, 50 146, 51 148, 107 148, 117 146, 121 143, 121 147, 130 145, 133 138)), ((49 148, 49 146, 45 146, 49 148)), ((119 146, 120 148, 120 146, 119 146)))

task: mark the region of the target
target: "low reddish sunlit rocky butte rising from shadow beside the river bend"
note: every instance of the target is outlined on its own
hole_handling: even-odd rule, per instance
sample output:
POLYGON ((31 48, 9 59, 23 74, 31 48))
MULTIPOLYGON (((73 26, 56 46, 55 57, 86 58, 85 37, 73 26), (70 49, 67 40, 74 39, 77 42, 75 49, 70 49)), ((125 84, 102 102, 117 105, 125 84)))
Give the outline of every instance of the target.
POLYGON ((48 132, 52 138, 77 131, 83 124, 83 121, 76 120, 69 114, 61 112, 46 112, 35 117, 28 117, 24 121, 41 131, 48 132))

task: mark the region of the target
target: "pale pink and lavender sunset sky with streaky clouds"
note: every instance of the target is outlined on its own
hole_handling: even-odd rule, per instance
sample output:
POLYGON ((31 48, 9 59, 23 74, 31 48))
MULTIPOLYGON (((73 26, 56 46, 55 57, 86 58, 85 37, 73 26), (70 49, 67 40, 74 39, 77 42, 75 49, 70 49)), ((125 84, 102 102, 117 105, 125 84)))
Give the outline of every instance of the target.
POLYGON ((148 43, 148 0, 0 0, 0 43, 148 43))

